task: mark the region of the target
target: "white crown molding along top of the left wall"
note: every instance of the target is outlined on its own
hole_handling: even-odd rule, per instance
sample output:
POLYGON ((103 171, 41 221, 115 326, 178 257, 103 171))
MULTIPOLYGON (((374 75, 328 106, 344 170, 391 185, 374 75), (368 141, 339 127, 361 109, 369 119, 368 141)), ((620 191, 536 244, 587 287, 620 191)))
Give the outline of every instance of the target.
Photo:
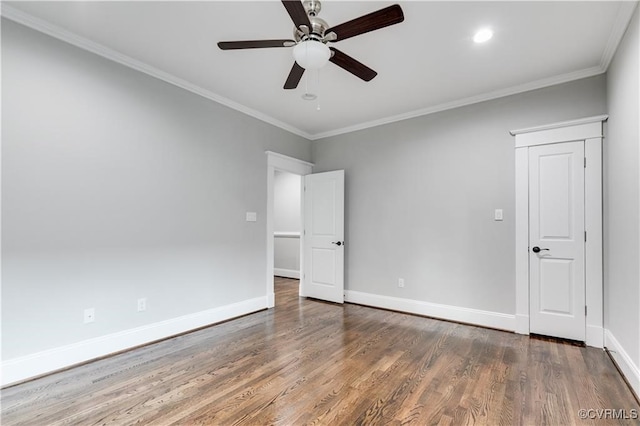
POLYGON ((305 139, 312 138, 311 134, 303 130, 300 130, 296 127, 293 127, 283 121, 277 120, 255 109, 246 107, 242 104, 239 104, 238 102, 232 101, 231 99, 225 98, 224 96, 218 95, 217 93, 204 89, 200 86, 197 86, 193 83, 190 83, 186 80, 183 80, 179 77, 176 77, 172 74, 169 74, 165 71, 155 68, 151 65, 148 65, 142 61, 134 59, 123 53, 120 53, 114 49, 103 46, 87 38, 81 37, 71 31, 65 30, 57 25, 53 25, 43 19, 36 18, 35 16, 29 15, 28 13, 25 13, 21 10, 18 10, 14 7, 7 5, 5 2, 2 2, 1 10, 2 10, 3 17, 10 19, 14 22, 17 22, 19 24, 25 25, 33 30, 47 34, 51 37, 57 38, 66 43, 69 43, 76 47, 84 49, 88 52, 102 56, 103 58, 107 58, 111 61, 117 62, 120 65, 124 65, 136 71, 140 71, 142 73, 150 75, 151 77, 157 78, 169 84, 173 84, 174 86, 180 87, 181 89, 187 90, 191 93, 195 93, 196 95, 199 95, 199 96, 202 96, 203 98, 217 102, 221 105, 224 105, 226 107, 239 111, 250 117, 257 118, 258 120, 261 120, 261 121, 264 121, 265 123, 269 123, 273 126, 279 127, 283 130, 286 130, 287 132, 301 136, 305 139))

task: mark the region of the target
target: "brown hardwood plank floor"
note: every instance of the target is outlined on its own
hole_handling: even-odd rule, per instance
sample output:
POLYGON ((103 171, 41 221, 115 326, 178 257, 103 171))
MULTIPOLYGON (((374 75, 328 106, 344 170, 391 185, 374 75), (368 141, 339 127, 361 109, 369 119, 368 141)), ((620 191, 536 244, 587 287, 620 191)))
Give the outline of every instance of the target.
POLYGON ((640 407, 602 350, 297 291, 279 278, 275 309, 6 388, 2 424, 639 422, 613 418, 640 407))

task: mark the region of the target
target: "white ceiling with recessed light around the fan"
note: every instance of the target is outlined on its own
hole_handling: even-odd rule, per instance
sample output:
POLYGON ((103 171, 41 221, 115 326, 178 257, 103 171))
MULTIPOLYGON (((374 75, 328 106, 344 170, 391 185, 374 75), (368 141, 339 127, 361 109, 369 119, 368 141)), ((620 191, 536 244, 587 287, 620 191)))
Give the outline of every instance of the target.
MULTIPOLYGON (((392 3, 325 0, 319 16, 337 25, 392 3)), ((292 38, 279 1, 3 2, 2 14, 317 139, 600 74, 636 2, 399 4, 404 22, 335 44, 378 76, 363 82, 331 63, 319 76, 307 72, 318 101, 301 98, 304 77, 298 89, 282 89, 291 48, 216 46, 292 38), (493 39, 474 44, 474 32, 486 26, 493 39)))

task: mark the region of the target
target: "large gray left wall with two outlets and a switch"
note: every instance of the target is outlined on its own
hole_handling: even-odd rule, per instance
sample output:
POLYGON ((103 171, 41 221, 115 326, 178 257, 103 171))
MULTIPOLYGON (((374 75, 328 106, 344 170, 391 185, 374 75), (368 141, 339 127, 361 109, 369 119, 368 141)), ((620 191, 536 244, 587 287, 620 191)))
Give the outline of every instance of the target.
POLYGON ((265 150, 311 159, 298 136, 3 20, 2 358, 265 296, 265 150))

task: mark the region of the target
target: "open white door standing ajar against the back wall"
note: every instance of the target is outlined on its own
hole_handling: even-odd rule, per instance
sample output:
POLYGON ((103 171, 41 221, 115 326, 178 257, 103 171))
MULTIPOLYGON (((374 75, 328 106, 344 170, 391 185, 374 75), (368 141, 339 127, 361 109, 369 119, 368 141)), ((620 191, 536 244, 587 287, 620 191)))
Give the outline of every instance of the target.
POLYGON ((304 177, 300 295, 344 302, 344 170, 304 177))

